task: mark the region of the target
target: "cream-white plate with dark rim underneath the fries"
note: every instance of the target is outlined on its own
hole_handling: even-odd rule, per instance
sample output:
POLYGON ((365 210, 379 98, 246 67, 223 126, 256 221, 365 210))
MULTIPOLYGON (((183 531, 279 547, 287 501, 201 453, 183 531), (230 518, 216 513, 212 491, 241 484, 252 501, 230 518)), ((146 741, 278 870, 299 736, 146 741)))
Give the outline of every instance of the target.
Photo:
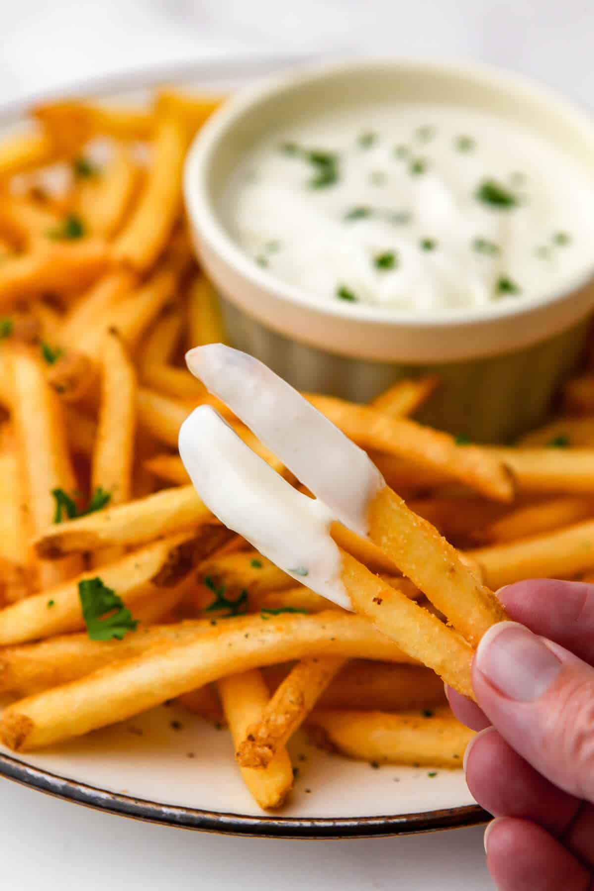
MULTIPOLYGON (((144 101, 152 86, 175 83, 215 93, 232 90, 301 58, 235 61, 150 69, 69 86, 61 95, 144 101)), ((32 97, 31 102, 47 96, 32 97)), ((19 127, 28 103, 0 109, 0 130, 19 127)), ((1 134, 0 134, 1 135, 1 134)), ((175 707, 14 756, 0 747, 0 773, 80 804, 185 829, 281 838, 344 838, 450 829, 485 822, 461 771, 348 761, 311 746, 290 745, 298 766, 294 793, 278 816, 264 815, 240 778, 225 730, 175 707), (172 722, 180 723, 174 729, 172 722)))

